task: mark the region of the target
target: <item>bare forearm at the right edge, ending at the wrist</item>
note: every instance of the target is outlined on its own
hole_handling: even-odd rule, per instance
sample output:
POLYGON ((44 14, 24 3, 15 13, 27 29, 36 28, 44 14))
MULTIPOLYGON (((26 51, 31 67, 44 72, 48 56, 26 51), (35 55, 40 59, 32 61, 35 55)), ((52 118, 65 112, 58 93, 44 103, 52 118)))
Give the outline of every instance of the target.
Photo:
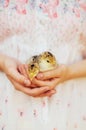
POLYGON ((68 69, 68 79, 86 77, 86 60, 70 65, 68 69))

